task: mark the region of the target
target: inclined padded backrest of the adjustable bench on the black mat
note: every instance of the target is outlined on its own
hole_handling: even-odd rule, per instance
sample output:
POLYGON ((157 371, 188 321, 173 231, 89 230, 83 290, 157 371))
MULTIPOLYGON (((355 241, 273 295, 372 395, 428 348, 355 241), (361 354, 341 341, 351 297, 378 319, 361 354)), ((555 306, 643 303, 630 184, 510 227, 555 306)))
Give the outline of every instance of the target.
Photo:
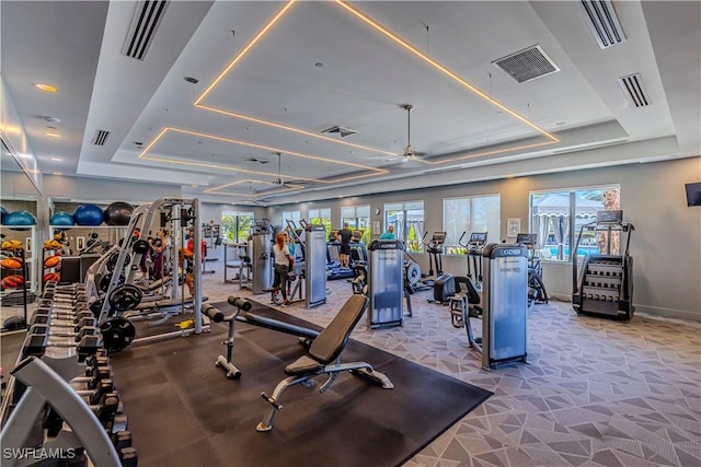
POLYGON ((322 364, 333 362, 346 347, 348 337, 368 307, 368 297, 353 295, 309 347, 309 354, 322 364))

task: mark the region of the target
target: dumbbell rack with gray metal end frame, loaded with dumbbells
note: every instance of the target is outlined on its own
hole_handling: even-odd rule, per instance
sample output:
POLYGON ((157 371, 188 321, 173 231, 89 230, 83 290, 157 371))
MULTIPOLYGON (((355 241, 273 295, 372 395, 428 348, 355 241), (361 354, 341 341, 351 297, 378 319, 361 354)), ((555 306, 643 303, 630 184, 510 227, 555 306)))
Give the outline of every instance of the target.
POLYGON ((83 285, 47 282, 0 407, 3 467, 137 466, 96 324, 83 285))

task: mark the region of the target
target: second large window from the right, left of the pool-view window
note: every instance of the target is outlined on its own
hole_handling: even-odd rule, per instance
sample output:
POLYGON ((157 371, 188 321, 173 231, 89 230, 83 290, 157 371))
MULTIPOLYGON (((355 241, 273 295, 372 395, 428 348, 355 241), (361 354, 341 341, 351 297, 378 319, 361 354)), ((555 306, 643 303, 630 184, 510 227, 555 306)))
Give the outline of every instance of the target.
POLYGON ((458 243, 470 240, 472 232, 487 232, 487 243, 498 243, 502 231, 499 195, 446 198, 443 200, 443 229, 446 231, 446 255, 464 255, 458 243))

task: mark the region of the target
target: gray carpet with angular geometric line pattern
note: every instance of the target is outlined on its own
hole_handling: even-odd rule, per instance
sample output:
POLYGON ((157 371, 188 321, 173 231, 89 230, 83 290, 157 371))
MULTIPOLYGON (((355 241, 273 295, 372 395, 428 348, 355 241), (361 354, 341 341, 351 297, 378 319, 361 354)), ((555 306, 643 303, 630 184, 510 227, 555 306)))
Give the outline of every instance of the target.
MULTIPOLYGON (((204 277, 210 300, 249 295, 221 278, 204 277)), ((327 289, 325 305, 280 310, 325 326, 352 293, 345 280, 327 289)), ((412 295, 403 327, 361 324, 353 338, 495 395, 407 466, 701 466, 700 323, 635 315, 624 324, 577 316, 568 303, 535 305, 529 363, 486 372, 447 307, 426 302, 429 293, 412 295)))

